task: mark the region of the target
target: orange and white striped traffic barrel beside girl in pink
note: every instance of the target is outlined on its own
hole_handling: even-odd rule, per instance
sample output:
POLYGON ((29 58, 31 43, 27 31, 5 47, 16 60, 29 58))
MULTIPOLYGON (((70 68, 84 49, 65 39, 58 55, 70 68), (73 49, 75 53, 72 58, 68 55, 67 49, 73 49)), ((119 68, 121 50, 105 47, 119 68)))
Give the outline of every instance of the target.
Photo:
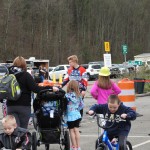
POLYGON ((118 82, 118 86, 121 89, 121 93, 118 95, 119 99, 124 105, 136 110, 134 82, 124 78, 118 82))

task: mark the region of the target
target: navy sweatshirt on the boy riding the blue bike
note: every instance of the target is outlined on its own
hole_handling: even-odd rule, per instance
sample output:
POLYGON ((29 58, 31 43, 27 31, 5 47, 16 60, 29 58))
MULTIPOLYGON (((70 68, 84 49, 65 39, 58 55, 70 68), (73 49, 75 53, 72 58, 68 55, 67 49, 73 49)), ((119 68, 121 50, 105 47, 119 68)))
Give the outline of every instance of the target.
MULTIPOLYGON (((130 107, 126 107, 123 105, 123 103, 120 104, 118 110, 112 114, 109 109, 108 109, 108 104, 102 104, 98 105, 95 104, 93 105, 90 110, 93 110, 94 112, 98 114, 103 114, 105 118, 110 118, 110 117, 120 117, 121 114, 125 113, 127 114, 126 121, 120 121, 120 122, 115 122, 113 126, 109 129, 107 129, 108 135, 110 136, 118 136, 118 135, 125 135, 128 136, 128 133, 131 128, 131 122, 130 120, 135 120, 136 119, 136 113, 134 110, 132 110, 130 107)), ((106 125, 110 126, 110 122, 107 122, 106 125)))

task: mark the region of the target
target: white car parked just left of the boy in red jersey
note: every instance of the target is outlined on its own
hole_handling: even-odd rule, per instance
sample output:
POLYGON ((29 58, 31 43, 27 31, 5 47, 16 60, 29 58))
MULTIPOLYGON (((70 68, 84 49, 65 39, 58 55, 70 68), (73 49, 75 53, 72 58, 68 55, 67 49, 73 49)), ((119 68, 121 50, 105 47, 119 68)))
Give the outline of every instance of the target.
POLYGON ((69 65, 58 65, 55 67, 54 70, 52 70, 51 72, 49 72, 49 77, 51 80, 53 80, 53 76, 55 75, 56 80, 59 79, 59 76, 62 75, 62 77, 64 78, 64 76, 67 74, 67 70, 70 66, 69 65))

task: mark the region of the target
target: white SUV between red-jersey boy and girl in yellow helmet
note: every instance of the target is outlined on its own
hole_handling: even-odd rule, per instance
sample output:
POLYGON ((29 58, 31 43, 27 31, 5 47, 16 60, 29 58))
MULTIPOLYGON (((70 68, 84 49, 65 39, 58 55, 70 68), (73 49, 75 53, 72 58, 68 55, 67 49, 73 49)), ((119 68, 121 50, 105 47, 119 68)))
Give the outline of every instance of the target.
POLYGON ((100 64, 82 64, 81 66, 86 69, 88 80, 97 79, 99 70, 102 67, 100 64))

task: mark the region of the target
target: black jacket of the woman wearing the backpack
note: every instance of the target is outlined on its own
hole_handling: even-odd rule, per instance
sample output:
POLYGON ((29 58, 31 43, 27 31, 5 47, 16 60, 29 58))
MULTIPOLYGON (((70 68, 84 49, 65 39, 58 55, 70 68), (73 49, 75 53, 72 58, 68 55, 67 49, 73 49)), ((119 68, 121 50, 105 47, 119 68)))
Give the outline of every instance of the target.
POLYGON ((22 94, 17 101, 7 101, 7 106, 31 106, 31 92, 40 92, 42 89, 52 88, 52 87, 39 87, 30 73, 23 71, 16 74, 16 79, 21 88, 22 94))

